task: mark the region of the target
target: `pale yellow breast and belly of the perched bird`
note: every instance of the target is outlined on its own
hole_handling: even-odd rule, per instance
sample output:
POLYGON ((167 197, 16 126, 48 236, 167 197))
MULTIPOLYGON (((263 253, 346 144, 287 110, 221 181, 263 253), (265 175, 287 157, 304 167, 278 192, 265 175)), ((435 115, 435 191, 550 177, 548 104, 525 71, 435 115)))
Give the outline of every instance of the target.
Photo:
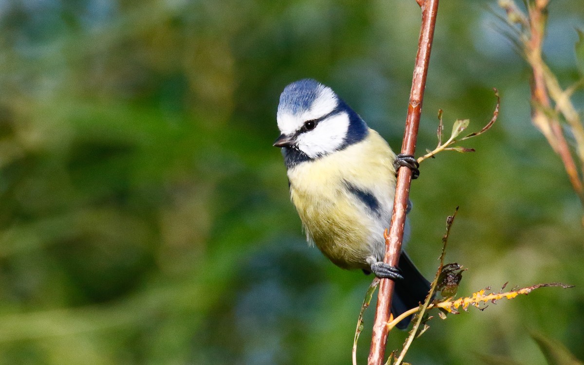
POLYGON ((376 221, 380 217, 347 190, 347 182, 373 193, 388 213, 395 189, 394 158, 387 142, 369 130, 361 142, 288 170, 290 196, 307 237, 335 265, 366 269, 374 246, 383 245, 383 227, 376 221))

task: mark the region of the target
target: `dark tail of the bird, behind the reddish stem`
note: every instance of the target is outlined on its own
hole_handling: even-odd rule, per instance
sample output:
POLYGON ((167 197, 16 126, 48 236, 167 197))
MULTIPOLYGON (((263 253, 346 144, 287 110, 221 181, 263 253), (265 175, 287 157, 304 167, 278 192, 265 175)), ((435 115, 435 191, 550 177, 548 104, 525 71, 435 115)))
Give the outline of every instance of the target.
MULTIPOLYGON (((399 270, 404 280, 395 281, 394 296, 391 300, 391 314, 394 318, 411 308, 424 303, 430 291, 430 282, 416 269, 405 251, 399 255, 399 270)), ((403 319, 397 324, 397 328, 406 329, 413 315, 403 319)))

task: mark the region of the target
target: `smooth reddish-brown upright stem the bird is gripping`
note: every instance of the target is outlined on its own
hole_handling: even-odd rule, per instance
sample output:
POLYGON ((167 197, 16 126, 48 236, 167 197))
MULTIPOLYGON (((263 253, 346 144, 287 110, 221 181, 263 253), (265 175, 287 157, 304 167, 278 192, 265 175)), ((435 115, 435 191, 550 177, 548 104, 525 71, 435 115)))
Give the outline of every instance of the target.
MULTIPOLYGON (((408 116, 406 117, 402 154, 413 155, 416 151, 420 112, 426 85, 426 75, 430 62, 430 50, 434 36, 434 25, 438 11, 438 0, 416 0, 422 9, 422 26, 418 42, 418 54, 413 69, 412 90, 409 97, 408 116)), ((404 238, 405 213, 408 204, 409 187, 412 180, 412 171, 409 168, 400 168, 395 187, 394 210, 391 215, 390 232, 385 239, 384 262, 397 266, 404 238)), ((377 309, 371 338, 369 365, 381 365, 385 356, 387 343, 387 322, 390 319, 391 296, 394 290, 394 281, 381 279, 377 298, 377 309)))

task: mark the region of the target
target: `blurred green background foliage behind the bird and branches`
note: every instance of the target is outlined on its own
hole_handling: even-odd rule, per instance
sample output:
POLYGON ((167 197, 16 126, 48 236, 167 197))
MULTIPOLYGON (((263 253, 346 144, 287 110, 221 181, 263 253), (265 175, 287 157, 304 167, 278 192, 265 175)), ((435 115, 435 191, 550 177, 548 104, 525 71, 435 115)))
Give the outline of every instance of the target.
MULTIPOLYGON (((399 150, 418 6, 138 4, 0 0, 0 363, 349 364, 371 277, 305 243, 276 107, 289 82, 316 78, 399 150)), ((584 2, 549 10, 545 53, 566 87, 584 2)), ((434 319, 414 364, 544 364, 529 331, 584 359, 583 210, 531 125, 529 69, 501 14, 494 0, 440 4, 419 154, 436 146, 439 108, 446 134, 455 119, 484 126, 493 87, 501 112, 463 143, 477 152, 423 162, 408 251, 432 277, 460 206, 447 254, 468 268, 459 294, 576 287, 434 319)))

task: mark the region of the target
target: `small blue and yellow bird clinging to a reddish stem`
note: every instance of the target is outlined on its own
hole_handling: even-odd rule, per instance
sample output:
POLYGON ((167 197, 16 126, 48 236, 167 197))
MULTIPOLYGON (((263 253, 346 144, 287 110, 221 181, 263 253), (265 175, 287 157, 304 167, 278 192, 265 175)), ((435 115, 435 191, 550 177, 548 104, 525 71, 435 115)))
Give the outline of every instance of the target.
MULTIPOLYGON (((276 113, 290 198, 307 241, 342 269, 395 281, 394 318, 423 303, 430 283, 402 250, 398 267, 383 262, 396 168, 417 171, 412 156, 396 156, 336 93, 314 79, 287 85, 276 113)), ((411 203, 408 204, 408 211, 411 203)), ((406 223, 409 235, 409 223, 406 223)), ((407 328, 411 317, 398 328, 407 328)))

